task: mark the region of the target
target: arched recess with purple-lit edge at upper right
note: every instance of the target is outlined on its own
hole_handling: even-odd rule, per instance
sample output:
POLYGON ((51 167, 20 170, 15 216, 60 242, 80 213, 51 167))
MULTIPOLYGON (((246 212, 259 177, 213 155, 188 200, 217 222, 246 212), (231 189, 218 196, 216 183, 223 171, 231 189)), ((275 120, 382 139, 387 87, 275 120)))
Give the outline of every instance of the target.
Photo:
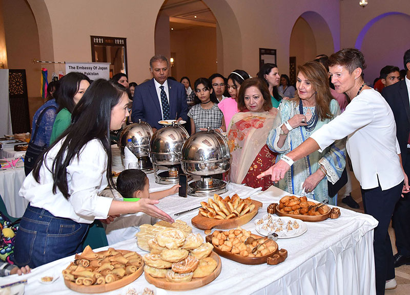
POLYGON ((403 55, 410 48, 409 27, 410 15, 401 12, 383 13, 363 27, 355 47, 364 54, 364 79, 368 85, 373 85, 385 65, 404 68, 403 55))

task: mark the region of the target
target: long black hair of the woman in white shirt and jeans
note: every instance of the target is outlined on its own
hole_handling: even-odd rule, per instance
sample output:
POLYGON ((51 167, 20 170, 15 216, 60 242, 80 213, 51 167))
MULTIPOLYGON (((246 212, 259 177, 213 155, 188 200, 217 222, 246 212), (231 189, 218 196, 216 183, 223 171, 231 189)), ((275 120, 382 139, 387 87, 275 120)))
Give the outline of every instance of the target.
POLYGON ((96 80, 88 87, 83 98, 80 99, 72 112, 72 124, 38 157, 33 170, 33 177, 37 183, 40 181, 40 168, 43 165, 44 158, 47 157, 48 151, 60 140, 63 140, 54 158, 53 166, 46 166, 45 168, 53 174, 53 193, 55 194, 58 188, 64 197, 68 199, 70 193, 67 184, 67 166, 75 157, 79 156, 79 153, 89 141, 97 139, 108 155, 108 183, 110 187, 115 187, 111 176, 112 157, 109 139, 111 109, 119 102, 124 93, 126 93, 124 86, 104 79, 96 80))

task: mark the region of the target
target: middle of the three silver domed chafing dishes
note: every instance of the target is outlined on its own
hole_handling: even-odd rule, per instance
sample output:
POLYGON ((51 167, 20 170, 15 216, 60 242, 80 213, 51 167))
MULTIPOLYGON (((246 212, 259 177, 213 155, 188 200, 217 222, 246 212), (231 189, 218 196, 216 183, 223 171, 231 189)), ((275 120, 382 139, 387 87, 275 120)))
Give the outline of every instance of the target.
POLYGON ((179 154, 183 143, 188 138, 187 130, 175 124, 163 127, 152 135, 149 154, 157 184, 177 184, 179 182, 179 173, 181 173, 179 154))

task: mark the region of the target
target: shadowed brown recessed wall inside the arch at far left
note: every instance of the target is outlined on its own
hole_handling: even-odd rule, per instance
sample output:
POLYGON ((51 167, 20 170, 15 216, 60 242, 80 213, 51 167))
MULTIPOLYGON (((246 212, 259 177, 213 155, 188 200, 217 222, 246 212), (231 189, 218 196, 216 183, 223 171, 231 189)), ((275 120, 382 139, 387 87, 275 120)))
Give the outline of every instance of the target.
MULTIPOLYGON (((40 57, 36 22, 24 0, 3 1, 4 28, 9 69, 25 69, 28 97, 40 97, 41 65, 33 64, 40 57)), ((51 76, 52 72, 49 72, 51 76)), ((32 115, 32 114, 31 114, 32 115)))

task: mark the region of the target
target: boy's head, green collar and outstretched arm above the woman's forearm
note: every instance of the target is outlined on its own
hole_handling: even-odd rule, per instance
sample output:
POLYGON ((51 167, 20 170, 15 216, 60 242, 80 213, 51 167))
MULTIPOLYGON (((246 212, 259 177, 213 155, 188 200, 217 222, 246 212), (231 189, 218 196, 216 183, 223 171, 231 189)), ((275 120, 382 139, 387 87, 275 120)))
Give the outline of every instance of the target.
POLYGON ((141 198, 159 200, 178 193, 180 187, 175 185, 168 190, 150 193, 150 180, 147 174, 139 169, 127 169, 119 173, 116 186, 117 191, 127 202, 136 202, 141 198))

